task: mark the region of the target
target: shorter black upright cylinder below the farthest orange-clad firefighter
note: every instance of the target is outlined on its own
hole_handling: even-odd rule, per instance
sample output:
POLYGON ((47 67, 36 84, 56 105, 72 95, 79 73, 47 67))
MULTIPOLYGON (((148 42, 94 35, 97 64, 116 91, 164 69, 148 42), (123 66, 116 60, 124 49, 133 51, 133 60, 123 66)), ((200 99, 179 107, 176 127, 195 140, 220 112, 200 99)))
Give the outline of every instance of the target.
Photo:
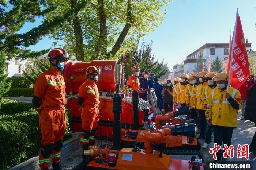
POLYGON ((132 91, 132 105, 133 105, 133 111, 132 111, 133 125, 132 125, 132 128, 134 130, 139 130, 140 129, 138 104, 139 104, 139 92, 137 90, 133 90, 132 91))

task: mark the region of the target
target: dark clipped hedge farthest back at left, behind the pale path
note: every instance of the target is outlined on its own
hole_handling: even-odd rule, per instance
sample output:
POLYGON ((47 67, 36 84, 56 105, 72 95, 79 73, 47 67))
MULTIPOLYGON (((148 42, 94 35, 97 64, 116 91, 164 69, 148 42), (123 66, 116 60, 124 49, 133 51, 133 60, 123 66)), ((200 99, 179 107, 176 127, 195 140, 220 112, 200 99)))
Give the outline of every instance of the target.
POLYGON ((33 97, 34 88, 11 88, 4 97, 33 97))

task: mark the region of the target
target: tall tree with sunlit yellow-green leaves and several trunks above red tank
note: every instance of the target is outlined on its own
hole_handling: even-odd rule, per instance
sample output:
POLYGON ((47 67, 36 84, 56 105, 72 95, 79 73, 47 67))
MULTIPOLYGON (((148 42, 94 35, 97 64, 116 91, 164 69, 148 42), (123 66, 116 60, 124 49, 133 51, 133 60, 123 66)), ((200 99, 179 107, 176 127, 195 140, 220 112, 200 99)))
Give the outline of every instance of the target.
MULTIPOLYGON (((47 18, 61 15, 79 0, 48 0, 55 10, 47 18)), ((92 0, 72 21, 53 31, 67 52, 80 61, 116 59, 136 48, 139 39, 162 23, 166 0, 92 0)))

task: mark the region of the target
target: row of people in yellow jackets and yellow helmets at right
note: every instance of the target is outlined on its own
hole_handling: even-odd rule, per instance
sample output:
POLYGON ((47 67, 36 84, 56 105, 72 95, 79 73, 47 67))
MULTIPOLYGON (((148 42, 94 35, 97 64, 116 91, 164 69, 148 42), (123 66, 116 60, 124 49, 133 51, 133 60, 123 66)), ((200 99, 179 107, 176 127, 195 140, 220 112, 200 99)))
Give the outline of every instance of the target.
MULTIPOLYGON (((241 95, 237 89, 228 86, 226 73, 199 72, 183 73, 174 78, 173 101, 181 102, 182 107, 189 105, 190 117, 195 119, 198 140, 205 139, 202 148, 211 142, 213 130, 214 143, 230 146, 233 129, 237 127, 237 112, 242 107, 241 95)), ((222 153, 217 159, 223 162, 222 153)))

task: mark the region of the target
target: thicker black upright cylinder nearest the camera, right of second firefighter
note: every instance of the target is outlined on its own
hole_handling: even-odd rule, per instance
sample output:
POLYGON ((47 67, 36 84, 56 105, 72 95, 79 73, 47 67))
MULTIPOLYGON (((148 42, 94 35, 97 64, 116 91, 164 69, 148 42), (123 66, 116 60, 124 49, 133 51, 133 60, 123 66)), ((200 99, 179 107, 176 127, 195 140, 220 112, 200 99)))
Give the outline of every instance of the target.
POLYGON ((121 122, 121 113, 122 113, 122 97, 120 94, 114 94, 113 96, 113 113, 114 113, 114 122, 113 122, 113 149, 121 150, 121 131, 122 131, 122 122, 121 122))

